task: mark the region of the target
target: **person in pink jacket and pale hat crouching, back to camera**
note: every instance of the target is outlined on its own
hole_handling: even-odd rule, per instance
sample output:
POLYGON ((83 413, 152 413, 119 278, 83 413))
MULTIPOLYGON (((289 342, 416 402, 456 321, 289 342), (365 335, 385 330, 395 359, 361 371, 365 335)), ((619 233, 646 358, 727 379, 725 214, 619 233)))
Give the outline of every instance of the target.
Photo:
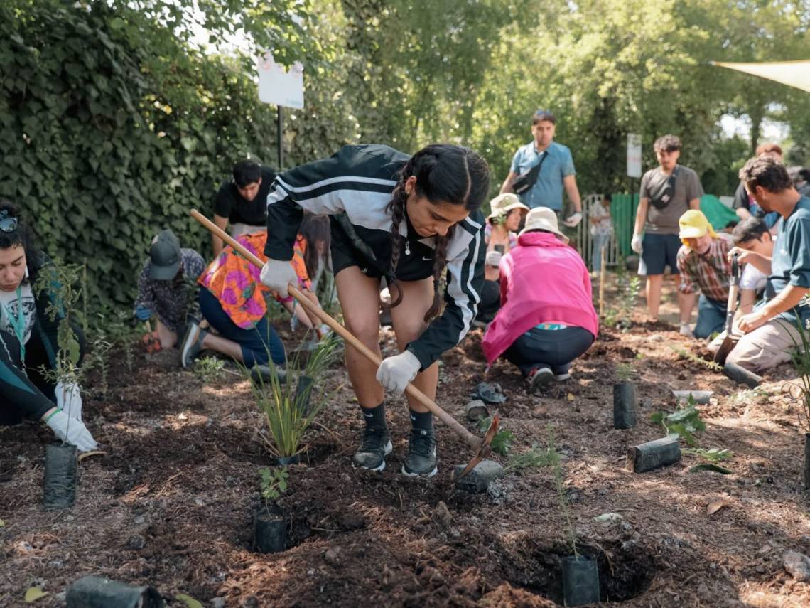
POLYGON ((501 259, 501 310, 484 335, 487 362, 503 355, 532 387, 565 380, 598 331, 585 263, 555 213, 532 209, 518 246, 501 259))

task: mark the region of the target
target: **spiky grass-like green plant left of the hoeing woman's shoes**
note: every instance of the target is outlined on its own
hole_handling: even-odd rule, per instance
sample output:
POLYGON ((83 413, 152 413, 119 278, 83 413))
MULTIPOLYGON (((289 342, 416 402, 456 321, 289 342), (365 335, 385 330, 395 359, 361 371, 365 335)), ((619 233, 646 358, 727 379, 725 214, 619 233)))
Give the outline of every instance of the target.
POLYGON ((313 399, 313 392, 317 388, 318 377, 335 360, 338 345, 339 340, 335 336, 320 342, 310 354, 303 372, 298 374, 295 390, 292 388, 292 376, 298 367, 297 358, 288 364, 286 380, 272 365, 268 379, 262 375, 250 375, 249 370, 243 369, 267 420, 266 432, 259 431, 259 435, 278 465, 294 465, 300 461, 301 452, 305 449, 304 434, 328 400, 323 394, 313 399))

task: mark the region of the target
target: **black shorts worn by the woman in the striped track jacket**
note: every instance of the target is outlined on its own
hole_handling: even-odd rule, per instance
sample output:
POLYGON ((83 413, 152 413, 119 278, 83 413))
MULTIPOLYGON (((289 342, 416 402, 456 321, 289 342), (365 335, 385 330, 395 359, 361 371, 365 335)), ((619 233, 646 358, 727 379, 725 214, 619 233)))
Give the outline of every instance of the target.
MULTIPOLYGON (((377 257, 375 262, 369 259, 362 251, 360 251, 352 242, 352 238, 343 229, 343 226, 335 219, 335 216, 330 216, 330 252, 332 255, 332 270, 335 276, 343 268, 356 266, 360 268, 365 276, 370 276, 374 279, 386 276, 390 260, 390 246, 384 248, 382 251, 374 251, 377 257)), ((413 242, 409 244, 411 255, 405 255, 403 251, 399 254, 399 264, 397 265, 396 278, 399 280, 423 280, 433 276, 433 250, 420 242, 413 242)))

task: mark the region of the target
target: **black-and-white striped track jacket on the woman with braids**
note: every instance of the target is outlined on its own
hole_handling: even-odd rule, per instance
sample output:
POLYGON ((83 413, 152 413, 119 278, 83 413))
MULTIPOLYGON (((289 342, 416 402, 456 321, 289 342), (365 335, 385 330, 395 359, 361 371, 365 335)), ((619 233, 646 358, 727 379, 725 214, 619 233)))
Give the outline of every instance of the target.
MULTIPOLYGON (((345 213, 357 236, 373 250, 382 272, 388 272, 391 216, 386 211, 397 184, 396 173, 409 156, 382 145, 344 146, 334 156, 282 173, 267 195, 265 255, 292 259, 292 245, 304 209, 316 214, 345 213)), ((395 276, 430 276, 434 238, 420 238, 408 221, 395 276)), ((424 370, 441 353, 457 345, 470 329, 484 285, 484 216, 476 211, 454 227, 447 247, 445 309, 424 333, 407 345, 424 370)), ((408 306, 407 298, 400 306, 408 306)))

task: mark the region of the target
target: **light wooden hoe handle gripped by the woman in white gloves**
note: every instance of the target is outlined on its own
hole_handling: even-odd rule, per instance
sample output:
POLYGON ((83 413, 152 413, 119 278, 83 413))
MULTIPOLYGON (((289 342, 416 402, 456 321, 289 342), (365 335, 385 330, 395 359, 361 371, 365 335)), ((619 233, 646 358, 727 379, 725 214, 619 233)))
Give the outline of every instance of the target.
MULTIPOLYGON (((206 216, 203 216, 202 213, 198 212, 196 209, 192 209, 190 213, 195 220, 209 229, 211 233, 215 234, 215 236, 221 238, 224 242, 228 243, 228 245, 232 246, 234 250, 237 250, 241 255, 244 255, 245 258, 248 259, 249 262, 254 266, 257 268, 262 268, 264 266, 264 263, 258 258, 257 255, 254 255, 249 250, 246 250, 245 247, 241 246, 234 238, 232 238, 218 225, 215 225, 214 222, 209 220, 206 216)), ((304 306, 310 315, 315 315, 318 317, 318 319, 321 319, 322 323, 326 323, 326 325, 328 325, 332 331, 342 337, 343 340, 346 340, 346 342, 352 345, 352 347, 359 350, 360 353, 363 353, 364 357, 369 359, 369 361, 374 365, 379 366, 382 363, 382 359, 377 357, 377 353, 373 353, 371 349, 360 342, 360 340, 357 339, 352 332, 349 332, 347 328, 344 328, 343 325, 327 315, 324 310, 316 306, 314 302, 307 298, 304 293, 301 293, 296 286, 290 284, 287 286, 287 288, 290 295, 293 298, 296 298, 296 300, 301 303, 301 306, 304 306)), ((429 399, 424 392, 421 392, 413 384, 408 383, 407 387, 405 388, 405 392, 419 401, 421 405, 424 405, 424 407, 429 409, 441 420, 441 422, 444 422, 447 426, 450 426, 456 435, 461 437, 465 442, 469 443, 471 447, 478 449, 484 444, 482 439, 476 437, 469 430, 464 428, 464 426, 462 426, 454 417, 450 416, 450 414, 445 412, 444 409, 441 409, 438 405, 436 405, 433 400, 429 399)))

